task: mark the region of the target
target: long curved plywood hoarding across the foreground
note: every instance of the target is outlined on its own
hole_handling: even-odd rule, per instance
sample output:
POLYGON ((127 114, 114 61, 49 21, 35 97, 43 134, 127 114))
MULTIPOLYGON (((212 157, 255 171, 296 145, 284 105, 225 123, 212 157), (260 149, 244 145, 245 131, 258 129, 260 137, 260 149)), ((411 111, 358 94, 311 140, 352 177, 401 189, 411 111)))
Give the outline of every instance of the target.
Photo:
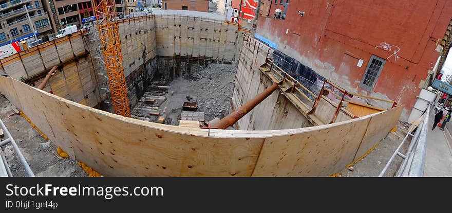
POLYGON ((71 158, 104 176, 331 175, 372 149, 402 112, 300 129, 209 130, 122 117, 6 77, 0 92, 71 158))

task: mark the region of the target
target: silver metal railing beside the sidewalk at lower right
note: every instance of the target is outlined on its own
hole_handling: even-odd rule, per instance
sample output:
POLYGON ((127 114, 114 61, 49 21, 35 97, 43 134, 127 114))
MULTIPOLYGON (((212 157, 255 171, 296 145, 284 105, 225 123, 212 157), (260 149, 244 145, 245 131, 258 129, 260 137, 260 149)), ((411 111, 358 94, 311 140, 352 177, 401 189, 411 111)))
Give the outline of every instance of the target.
POLYGON ((427 145, 427 131, 428 131, 428 117, 432 103, 429 103, 424 117, 419 125, 413 124, 412 127, 417 127, 416 133, 412 134, 413 128, 409 128, 406 136, 403 138, 402 143, 397 147, 396 151, 392 154, 388 163, 386 163, 383 170, 380 172, 379 177, 385 175, 390 164, 396 156, 402 157, 403 161, 399 170, 397 171, 397 177, 422 177, 424 176, 425 154, 427 145), (407 138, 411 136, 412 140, 408 147, 406 154, 400 152, 400 148, 403 146, 407 138), (414 151, 414 152, 413 152, 414 151))

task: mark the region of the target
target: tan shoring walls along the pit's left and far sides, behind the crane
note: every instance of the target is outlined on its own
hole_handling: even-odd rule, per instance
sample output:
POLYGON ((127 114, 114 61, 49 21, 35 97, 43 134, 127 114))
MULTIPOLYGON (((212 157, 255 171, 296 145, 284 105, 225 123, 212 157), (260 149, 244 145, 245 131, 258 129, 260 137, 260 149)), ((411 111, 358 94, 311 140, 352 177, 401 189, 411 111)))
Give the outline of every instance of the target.
MULTIPOLYGON (((198 13, 202 17, 163 13, 118 21, 130 105, 135 105, 146 80, 155 73, 174 78, 191 75, 210 63, 233 63, 241 35, 238 25, 209 19, 209 13, 194 14, 198 13)), ((93 38, 99 39, 78 31, 32 47, 0 60, 0 73, 14 79, 24 77, 37 86, 50 68, 62 65, 44 91, 95 107, 105 99, 107 90, 102 88, 108 84, 95 69, 104 65, 95 59, 103 60, 103 55, 93 38)))

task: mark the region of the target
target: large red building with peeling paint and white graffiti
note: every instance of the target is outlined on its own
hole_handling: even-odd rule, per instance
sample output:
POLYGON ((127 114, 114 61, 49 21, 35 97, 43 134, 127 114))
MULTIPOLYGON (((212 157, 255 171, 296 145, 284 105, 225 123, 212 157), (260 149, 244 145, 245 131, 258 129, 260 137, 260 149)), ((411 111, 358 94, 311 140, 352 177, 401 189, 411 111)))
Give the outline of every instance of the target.
POLYGON ((256 38, 346 90, 397 101, 406 120, 441 55, 452 1, 262 0, 259 13, 256 38))

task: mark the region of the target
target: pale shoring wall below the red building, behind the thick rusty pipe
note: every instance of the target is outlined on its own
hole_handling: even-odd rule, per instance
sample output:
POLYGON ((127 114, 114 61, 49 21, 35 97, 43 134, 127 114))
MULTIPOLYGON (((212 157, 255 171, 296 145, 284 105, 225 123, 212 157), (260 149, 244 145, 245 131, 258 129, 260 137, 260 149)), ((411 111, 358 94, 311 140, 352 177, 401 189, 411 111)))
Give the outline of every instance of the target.
MULTIPOLYGON (((273 56, 273 49, 253 38, 244 37, 243 40, 231 102, 233 109, 239 108, 275 83, 271 75, 264 74, 267 72, 260 70, 260 66, 266 63, 266 59, 273 56)), ((280 87, 278 92, 273 92, 254 110, 238 120, 236 129, 277 130, 324 125, 332 120, 337 109, 337 103, 323 97, 314 115, 309 116, 307 112, 311 109, 312 103, 293 94, 289 94, 292 97, 289 99, 288 94, 280 87)), ((335 122, 352 118, 353 115, 350 112, 341 109, 335 122)))

